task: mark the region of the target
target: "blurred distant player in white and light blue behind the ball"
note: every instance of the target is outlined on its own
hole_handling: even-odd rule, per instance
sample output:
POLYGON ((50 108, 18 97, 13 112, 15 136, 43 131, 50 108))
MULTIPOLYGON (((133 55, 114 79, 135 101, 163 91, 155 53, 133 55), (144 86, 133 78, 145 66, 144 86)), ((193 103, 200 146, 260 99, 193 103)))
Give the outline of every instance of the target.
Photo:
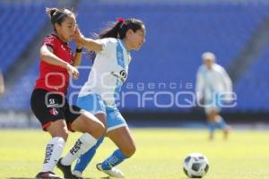
POLYGON ((232 93, 232 83, 228 73, 221 65, 215 63, 215 55, 211 52, 204 52, 202 55, 204 64, 202 64, 196 75, 195 92, 198 104, 204 101, 205 114, 207 115, 210 136, 213 140, 213 134, 217 127, 224 132, 226 139, 230 126, 225 123, 219 115, 223 104, 230 102, 232 93))

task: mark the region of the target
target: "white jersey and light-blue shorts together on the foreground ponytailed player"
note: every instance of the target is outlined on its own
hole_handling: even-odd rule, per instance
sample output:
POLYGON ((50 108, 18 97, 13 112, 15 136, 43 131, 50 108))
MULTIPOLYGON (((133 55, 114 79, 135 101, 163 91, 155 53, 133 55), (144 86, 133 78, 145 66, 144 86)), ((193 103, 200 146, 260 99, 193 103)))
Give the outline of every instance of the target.
POLYGON ((79 93, 77 106, 93 115, 107 115, 108 131, 126 126, 120 115, 116 100, 122 84, 126 81, 131 56, 121 39, 98 39, 102 49, 96 54, 91 72, 79 93))

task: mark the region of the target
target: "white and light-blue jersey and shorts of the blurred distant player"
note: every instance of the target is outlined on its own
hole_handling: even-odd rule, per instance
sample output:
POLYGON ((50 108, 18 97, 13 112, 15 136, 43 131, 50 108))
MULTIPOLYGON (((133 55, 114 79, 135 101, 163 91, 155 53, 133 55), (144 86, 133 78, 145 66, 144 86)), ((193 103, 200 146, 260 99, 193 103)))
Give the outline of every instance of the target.
POLYGON ((219 111, 221 109, 220 97, 229 101, 231 92, 230 77, 221 65, 213 64, 210 69, 204 64, 199 67, 196 75, 195 93, 198 101, 204 98, 206 113, 212 109, 219 111))

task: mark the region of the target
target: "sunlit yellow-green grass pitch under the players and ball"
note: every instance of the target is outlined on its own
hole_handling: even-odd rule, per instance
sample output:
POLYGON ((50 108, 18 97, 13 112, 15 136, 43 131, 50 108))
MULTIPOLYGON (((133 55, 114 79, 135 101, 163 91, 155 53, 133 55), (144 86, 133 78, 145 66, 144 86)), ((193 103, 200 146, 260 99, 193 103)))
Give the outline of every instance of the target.
MULTIPOLYGON (((205 130, 132 129, 137 150, 132 158, 118 166, 129 179, 187 179, 182 161, 191 152, 201 152, 209 159, 205 179, 268 179, 269 132, 232 131, 228 141, 217 132, 214 141, 207 140, 205 130)), ((71 133, 66 154, 80 133, 71 133)), ((0 131, 0 178, 33 178, 41 170, 44 149, 50 139, 41 130, 0 131)), ((91 165, 86 178, 107 178, 95 164, 116 149, 106 139, 91 165)), ((58 169, 56 174, 62 175, 58 169)))

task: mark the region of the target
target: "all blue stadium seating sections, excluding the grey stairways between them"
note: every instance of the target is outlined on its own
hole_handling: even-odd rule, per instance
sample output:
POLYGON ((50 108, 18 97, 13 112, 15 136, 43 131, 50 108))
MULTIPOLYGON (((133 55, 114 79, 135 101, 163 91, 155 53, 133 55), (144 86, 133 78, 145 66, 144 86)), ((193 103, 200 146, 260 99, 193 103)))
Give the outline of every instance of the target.
MULTIPOLYGON (((0 16, 1 24, 4 23, 3 17, 7 17, 10 14, 9 12, 13 11, 13 8, 20 8, 20 11, 24 14, 18 13, 20 11, 14 11, 13 15, 9 17, 13 22, 8 24, 15 26, 16 29, 8 32, 10 33, 9 36, 13 37, 13 43, 10 44, 18 44, 18 48, 19 46, 22 47, 19 48, 21 50, 12 53, 13 46, 5 47, 4 44, 8 38, 4 38, 0 42, 0 47, 7 48, 6 52, 1 51, 0 53, 2 70, 15 63, 16 56, 27 48, 29 40, 34 37, 35 33, 39 32, 40 26, 48 20, 45 18, 44 4, 35 6, 35 15, 28 11, 29 6, 22 5, 23 9, 20 5, 22 4, 10 4, 10 6, 3 7, 3 4, 0 4, 0 8, 4 9, 4 15, 1 13, 0 16), (25 24, 22 25, 23 22, 25 24), (33 22, 35 27, 30 30, 33 22), (13 57, 5 60, 8 54, 13 54, 13 57), (4 64, 2 64, 2 59, 4 59, 4 64)), ((117 17, 135 17, 142 19, 146 25, 146 43, 138 53, 132 53, 134 61, 130 64, 129 76, 126 85, 123 86, 123 93, 135 91, 139 92, 138 95, 142 97, 144 92, 150 91, 148 98, 155 98, 158 104, 167 105, 167 107, 155 107, 152 101, 147 100, 144 101, 143 105, 143 101, 139 101, 137 95, 127 95, 126 100, 120 101, 124 106, 123 111, 189 112, 192 107, 188 104, 186 98, 193 100, 191 93, 195 88, 195 72, 201 64, 200 55, 204 51, 213 51, 217 55, 218 63, 228 67, 233 58, 238 55, 239 50, 246 45, 257 26, 263 23, 268 15, 267 9, 268 4, 264 3, 90 4, 89 1, 82 0, 77 8, 77 13, 78 24, 86 36, 91 36, 90 32, 100 31, 106 21, 116 21, 117 17), (152 85, 149 86, 148 82, 152 85), (163 93, 156 95, 157 91, 163 91, 163 93), (180 93, 182 91, 183 93, 180 93), (169 105, 171 104, 171 96, 177 96, 178 92, 181 94, 178 96, 178 103, 188 107, 178 107, 175 101, 172 105, 169 105)), ((7 27, 1 28, 1 35, 4 31, 9 31, 7 27)), ((268 87, 268 83, 264 83, 261 79, 267 71, 266 69, 263 71, 257 70, 260 66, 266 67, 266 57, 268 56, 269 53, 266 52, 261 59, 257 59, 256 64, 242 79, 239 79, 238 84, 235 84, 239 105, 232 109, 233 111, 268 110, 268 107, 265 107, 267 105, 265 102, 259 102, 262 92, 268 87), (257 74, 258 72, 263 73, 257 74), (249 82, 249 79, 251 82, 249 82), (248 83, 247 87, 246 81, 248 83), (257 85, 265 85, 265 87, 257 89, 257 85), (256 92, 256 95, 250 98, 246 88, 250 91, 258 90, 259 92, 256 92), (255 98, 254 103, 251 102, 253 98, 255 98)), ((84 55, 82 65, 91 66, 89 56, 84 55)), ((1 109, 30 110, 30 92, 34 85, 34 79, 38 75, 37 68, 38 60, 32 64, 29 71, 26 71, 19 81, 15 82, 13 89, 0 100, 1 109)), ((82 84, 86 80, 88 72, 86 72, 87 70, 82 71, 82 78, 75 84, 82 84)), ((78 90, 79 88, 74 88, 70 89, 70 92, 78 90)), ((268 101, 268 97, 264 100, 268 101)))

